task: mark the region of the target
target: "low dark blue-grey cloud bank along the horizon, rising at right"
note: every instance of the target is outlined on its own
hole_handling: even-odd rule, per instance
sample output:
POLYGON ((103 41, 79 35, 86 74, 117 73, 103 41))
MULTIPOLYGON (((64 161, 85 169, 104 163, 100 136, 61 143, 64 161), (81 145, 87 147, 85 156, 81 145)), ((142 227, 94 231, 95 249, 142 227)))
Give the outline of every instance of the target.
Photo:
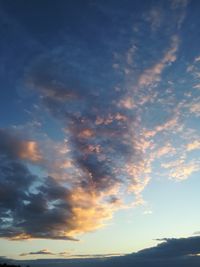
MULTIPOLYGON (((200 264, 200 236, 188 238, 166 238, 160 240, 161 243, 155 247, 140 250, 125 256, 93 255, 93 259, 70 259, 59 260, 59 266, 96 266, 96 267, 198 267, 200 264)), ((79 257, 80 255, 77 255, 79 257)), ((91 256, 91 255, 86 255, 91 256)), ((56 260, 44 260, 41 263, 54 264, 56 260)), ((31 261, 33 266, 42 266, 40 261, 31 261)))

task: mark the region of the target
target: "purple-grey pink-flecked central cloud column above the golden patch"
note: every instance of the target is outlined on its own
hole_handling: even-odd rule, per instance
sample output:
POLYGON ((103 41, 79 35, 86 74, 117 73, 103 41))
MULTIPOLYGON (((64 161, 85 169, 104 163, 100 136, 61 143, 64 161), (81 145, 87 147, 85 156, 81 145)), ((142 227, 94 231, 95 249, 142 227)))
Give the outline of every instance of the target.
POLYGON ((126 181, 134 180, 125 165, 142 160, 142 155, 139 150, 136 153, 133 145, 136 129, 130 125, 134 124, 135 114, 120 104, 128 91, 115 89, 115 74, 109 77, 104 65, 97 66, 100 58, 85 67, 79 56, 67 63, 63 60, 67 57, 64 51, 42 56, 30 68, 27 83, 66 128, 82 184, 100 192, 124 183, 125 176, 126 181), (99 75, 103 75, 103 80, 99 75))

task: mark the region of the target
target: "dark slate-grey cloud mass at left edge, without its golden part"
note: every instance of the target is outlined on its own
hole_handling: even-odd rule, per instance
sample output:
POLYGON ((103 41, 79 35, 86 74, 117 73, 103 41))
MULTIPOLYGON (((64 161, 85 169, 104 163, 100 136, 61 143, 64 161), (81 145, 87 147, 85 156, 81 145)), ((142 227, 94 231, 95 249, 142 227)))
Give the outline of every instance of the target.
POLYGON ((20 141, 0 132, 0 237, 75 240, 71 192, 52 177, 31 174, 20 159, 20 141))

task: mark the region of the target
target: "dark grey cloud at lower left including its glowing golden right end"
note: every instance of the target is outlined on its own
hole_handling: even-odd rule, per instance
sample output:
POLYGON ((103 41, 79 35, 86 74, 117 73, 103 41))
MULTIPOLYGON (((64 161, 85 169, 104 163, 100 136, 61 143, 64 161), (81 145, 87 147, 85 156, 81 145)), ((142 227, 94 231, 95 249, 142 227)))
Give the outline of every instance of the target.
POLYGON ((112 186, 107 186, 106 177, 108 188, 101 191, 84 182, 84 176, 74 181, 32 174, 21 156, 22 138, 8 129, 0 133, 0 237, 77 240, 74 236, 102 227, 122 206, 117 198, 118 183, 111 181, 112 186))

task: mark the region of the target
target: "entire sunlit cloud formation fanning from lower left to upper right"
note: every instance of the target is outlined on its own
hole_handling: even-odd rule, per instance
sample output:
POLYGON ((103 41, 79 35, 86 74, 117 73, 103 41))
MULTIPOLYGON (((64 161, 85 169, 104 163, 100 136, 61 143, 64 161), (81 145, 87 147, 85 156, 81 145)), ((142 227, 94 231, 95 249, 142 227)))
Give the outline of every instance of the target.
POLYGON ((198 160, 188 160, 199 148, 197 129, 188 126, 199 98, 185 86, 191 77, 198 85, 198 57, 186 82, 174 74, 188 1, 170 1, 166 12, 147 4, 136 21, 110 3, 92 8, 117 34, 88 16, 79 25, 87 38, 69 31, 71 41, 38 45, 36 55, 30 45, 19 87, 39 130, 0 129, 1 237, 77 240, 117 209, 144 203, 154 165, 175 180, 199 170, 198 160))

